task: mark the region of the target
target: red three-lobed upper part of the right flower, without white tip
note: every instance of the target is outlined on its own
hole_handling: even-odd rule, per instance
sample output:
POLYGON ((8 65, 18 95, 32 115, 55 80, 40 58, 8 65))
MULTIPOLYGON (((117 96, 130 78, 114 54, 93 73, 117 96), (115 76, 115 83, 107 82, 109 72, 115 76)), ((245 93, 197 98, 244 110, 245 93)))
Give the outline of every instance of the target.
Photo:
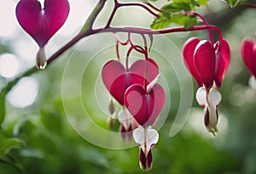
POLYGON ((225 40, 213 46, 211 42, 193 37, 183 46, 183 59, 200 87, 210 89, 215 82, 219 88, 230 64, 230 47, 225 40))

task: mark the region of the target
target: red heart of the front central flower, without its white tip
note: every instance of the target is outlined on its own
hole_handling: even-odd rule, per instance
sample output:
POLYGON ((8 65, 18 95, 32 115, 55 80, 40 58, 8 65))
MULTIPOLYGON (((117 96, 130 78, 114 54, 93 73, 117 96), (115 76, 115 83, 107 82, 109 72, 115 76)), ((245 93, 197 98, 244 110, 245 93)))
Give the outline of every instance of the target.
POLYGON ((125 107, 141 126, 152 126, 166 100, 163 87, 154 84, 149 93, 141 85, 132 85, 125 92, 125 107))

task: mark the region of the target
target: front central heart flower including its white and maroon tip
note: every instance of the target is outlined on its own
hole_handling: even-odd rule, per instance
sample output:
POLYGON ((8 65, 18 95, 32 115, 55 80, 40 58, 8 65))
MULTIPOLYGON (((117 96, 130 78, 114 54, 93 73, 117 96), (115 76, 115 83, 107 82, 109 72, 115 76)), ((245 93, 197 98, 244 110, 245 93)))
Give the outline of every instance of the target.
POLYGON ((158 142, 158 132, 152 129, 165 104, 165 91, 154 81, 147 88, 132 85, 125 91, 125 106, 140 125, 133 132, 133 138, 140 149, 140 167, 149 170, 152 167, 152 147, 158 142))

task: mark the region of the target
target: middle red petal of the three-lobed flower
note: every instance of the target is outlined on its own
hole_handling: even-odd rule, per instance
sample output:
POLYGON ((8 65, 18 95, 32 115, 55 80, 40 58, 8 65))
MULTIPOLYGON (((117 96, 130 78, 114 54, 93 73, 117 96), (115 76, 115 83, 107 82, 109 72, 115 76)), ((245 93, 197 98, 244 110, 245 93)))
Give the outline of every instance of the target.
POLYGON ((213 85, 215 76, 216 56, 211 42, 201 41, 195 48, 195 67, 198 70, 201 80, 206 88, 213 85))

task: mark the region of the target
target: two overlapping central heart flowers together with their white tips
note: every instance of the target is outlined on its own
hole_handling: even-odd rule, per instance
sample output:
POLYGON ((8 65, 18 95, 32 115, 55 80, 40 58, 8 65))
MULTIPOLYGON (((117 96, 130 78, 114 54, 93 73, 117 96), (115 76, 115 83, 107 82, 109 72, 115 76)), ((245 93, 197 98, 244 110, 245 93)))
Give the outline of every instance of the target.
POLYGON ((108 61, 102 68, 102 81, 122 106, 118 113, 122 138, 130 141, 133 135, 140 147, 140 166, 148 170, 152 166, 151 148, 159 136, 152 126, 160 115, 166 95, 163 87, 156 83, 159 68, 153 59, 145 56, 145 59, 138 59, 131 66, 128 59, 129 56, 125 66, 120 59, 108 61))

